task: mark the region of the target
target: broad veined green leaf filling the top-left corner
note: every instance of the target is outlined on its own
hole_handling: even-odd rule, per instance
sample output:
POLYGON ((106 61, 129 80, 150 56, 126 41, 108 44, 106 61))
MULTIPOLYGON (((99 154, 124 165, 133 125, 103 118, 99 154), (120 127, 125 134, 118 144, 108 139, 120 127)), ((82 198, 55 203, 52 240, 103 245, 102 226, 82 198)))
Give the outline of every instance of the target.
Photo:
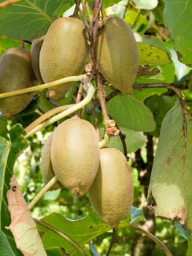
POLYGON ((32 40, 41 37, 50 23, 72 3, 72 0, 25 0, 12 4, 0 10, 0 34, 11 39, 32 40))

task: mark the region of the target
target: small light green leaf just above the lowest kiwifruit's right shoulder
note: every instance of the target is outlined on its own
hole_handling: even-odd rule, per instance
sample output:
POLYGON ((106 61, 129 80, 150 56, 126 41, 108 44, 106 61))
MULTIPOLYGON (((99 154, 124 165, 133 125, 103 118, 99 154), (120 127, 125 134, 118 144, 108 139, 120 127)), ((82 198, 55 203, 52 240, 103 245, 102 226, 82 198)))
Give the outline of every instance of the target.
MULTIPOLYGON (((137 149, 145 146, 147 142, 147 137, 142 134, 142 132, 135 132, 131 129, 126 129, 123 127, 119 127, 122 134, 126 137, 126 149, 127 154, 137 151, 137 149)), ((110 142, 107 144, 110 148, 118 148, 123 152, 123 144, 120 140, 120 136, 110 138, 110 142)))

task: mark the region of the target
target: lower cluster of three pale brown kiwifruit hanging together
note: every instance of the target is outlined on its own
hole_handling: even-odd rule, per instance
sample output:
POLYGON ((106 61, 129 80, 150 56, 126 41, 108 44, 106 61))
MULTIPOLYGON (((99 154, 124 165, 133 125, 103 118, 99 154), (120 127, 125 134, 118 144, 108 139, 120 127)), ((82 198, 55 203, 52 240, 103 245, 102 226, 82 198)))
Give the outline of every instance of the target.
POLYGON ((42 151, 42 176, 45 184, 56 176, 52 189, 88 192, 94 210, 112 228, 129 214, 133 181, 126 157, 116 148, 99 149, 99 136, 84 119, 74 116, 55 128, 42 151))

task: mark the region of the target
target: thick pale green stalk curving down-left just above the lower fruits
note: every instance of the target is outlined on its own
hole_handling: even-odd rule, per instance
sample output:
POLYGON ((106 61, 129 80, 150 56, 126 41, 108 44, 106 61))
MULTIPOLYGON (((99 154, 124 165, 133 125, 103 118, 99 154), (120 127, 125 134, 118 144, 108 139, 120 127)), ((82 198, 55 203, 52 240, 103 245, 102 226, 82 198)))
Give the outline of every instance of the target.
POLYGON ((73 105, 71 108, 69 108, 67 110, 64 110, 62 113, 58 113, 58 115, 51 117, 50 119, 43 122, 42 124, 37 125, 37 127, 34 127, 34 129, 31 129, 31 131, 29 131, 24 138, 27 139, 34 133, 39 132, 41 129, 49 126, 50 124, 55 123, 55 121, 58 121, 61 118, 69 116, 70 114, 74 113, 75 111, 80 110, 80 108, 85 107, 85 105, 87 105, 88 102, 91 102, 91 99, 93 98, 96 90, 94 89, 92 83, 85 83, 84 89, 85 89, 85 91, 87 90, 87 95, 84 99, 82 99, 81 102, 79 102, 76 105, 73 105), (85 88, 85 86, 88 86, 88 89, 85 88))

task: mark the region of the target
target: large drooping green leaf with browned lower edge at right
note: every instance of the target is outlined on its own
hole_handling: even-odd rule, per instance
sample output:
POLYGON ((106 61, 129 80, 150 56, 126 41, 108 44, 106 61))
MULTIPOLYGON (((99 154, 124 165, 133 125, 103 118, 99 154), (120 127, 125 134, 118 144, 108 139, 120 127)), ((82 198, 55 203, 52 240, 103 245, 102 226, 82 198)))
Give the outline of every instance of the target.
POLYGON ((178 101, 164 118, 151 173, 149 203, 155 204, 157 216, 177 220, 192 230, 192 121, 186 118, 186 142, 178 101))

